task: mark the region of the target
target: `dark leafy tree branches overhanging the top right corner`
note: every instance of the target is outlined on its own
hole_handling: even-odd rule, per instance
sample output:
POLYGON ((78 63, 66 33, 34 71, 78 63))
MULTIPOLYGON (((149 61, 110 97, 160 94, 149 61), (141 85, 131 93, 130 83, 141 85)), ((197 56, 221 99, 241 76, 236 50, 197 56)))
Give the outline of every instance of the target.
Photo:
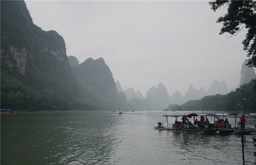
POLYGON ((223 23, 220 35, 229 33, 237 35, 242 28, 248 29, 246 39, 243 40, 243 50, 247 51, 249 67, 256 67, 256 1, 211 1, 211 9, 216 11, 227 7, 227 14, 219 17, 217 23, 223 23))

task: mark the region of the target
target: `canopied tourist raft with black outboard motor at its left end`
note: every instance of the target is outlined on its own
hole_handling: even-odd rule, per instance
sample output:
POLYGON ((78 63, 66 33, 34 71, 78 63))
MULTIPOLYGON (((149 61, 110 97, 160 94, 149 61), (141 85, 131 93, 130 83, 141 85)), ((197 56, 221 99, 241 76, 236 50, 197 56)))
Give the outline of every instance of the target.
POLYGON ((202 125, 201 123, 198 124, 194 124, 195 123, 195 117, 197 117, 199 115, 195 114, 195 113, 191 113, 189 115, 163 115, 163 117, 166 117, 166 121, 167 121, 167 127, 163 126, 163 123, 158 122, 158 126, 154 126, 155 129, 159 129, 159 130, 169 130, 169 131, 187 131, 187 132, 198 132, 198 133, 213 133, 213 132, 217 132, 218 130, 215 129, 214 127, 210 127, 210 125, 204 124, 202 125), (175 117, 175 122, 174 123, 168 123, 168 117, 175 117), (193 118, 192 118, 193 117, 193 118), (178 121, 178 118, 183 118, 183 119, 187 119, 187 118, 192 118, 193 119, 193 123, 189 120, 182 122, 182 121, 178 121))

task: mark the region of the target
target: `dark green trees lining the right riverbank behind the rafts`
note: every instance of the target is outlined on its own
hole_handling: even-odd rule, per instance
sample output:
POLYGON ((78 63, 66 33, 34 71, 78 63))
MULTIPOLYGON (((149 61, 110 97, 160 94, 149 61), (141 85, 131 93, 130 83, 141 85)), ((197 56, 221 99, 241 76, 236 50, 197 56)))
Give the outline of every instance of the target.
POLYGON ((250 83, 240 85, 236 91, 227 95, 204 96, 199 100, 190 100, 182 105, 171 104, 164 111, 189 110, 198 111, 202 109, 216 111, 256 110, 256 79, 250 83))

